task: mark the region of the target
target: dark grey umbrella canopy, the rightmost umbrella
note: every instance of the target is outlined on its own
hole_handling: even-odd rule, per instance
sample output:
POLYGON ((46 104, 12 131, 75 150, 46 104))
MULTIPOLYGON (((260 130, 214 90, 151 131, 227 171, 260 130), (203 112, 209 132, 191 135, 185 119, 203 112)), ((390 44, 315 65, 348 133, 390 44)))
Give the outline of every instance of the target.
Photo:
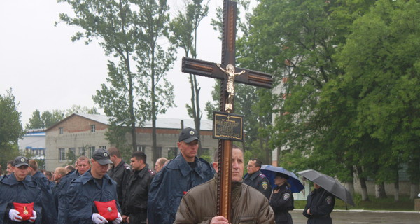
POLYGON ((351 197, 349 190, 344 188, 341 183, 331 176, 317 172, 314 169, 303 170, 297 172, 297 174, 302 175, 304 178, 318 184, 318 186, 321 186, 329 193, 332 193, 332 195, 335 195, 344 202, 354 206, 353 197, 351 197))

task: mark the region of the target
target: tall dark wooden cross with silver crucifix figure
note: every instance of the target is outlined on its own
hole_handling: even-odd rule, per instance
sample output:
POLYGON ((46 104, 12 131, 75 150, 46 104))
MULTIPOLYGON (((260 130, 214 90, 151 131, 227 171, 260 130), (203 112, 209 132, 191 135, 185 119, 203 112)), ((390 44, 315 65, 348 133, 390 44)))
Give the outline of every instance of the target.
MULTIPOLYGON (((223 3, 223 42, 222 42, 222 63, 221 65, 213 62, 205 62, 199 59, 183 57, 182 71, 209 78, 221 80, 221 102, 222 112, 233 113, 233 92, 228 90, 229 66, 235 73, 235 41, 236 41, 236 20, 237 3, 235 1, 224 0, 223 3), (229 66, 228 66, 229 65, 229 66), (223 69, 226 68, 226 69, 223 69), (230 97, 231 96, 231 97, 230 97), (230 102, 228 102, 230 101, 230 102), (231 106, 228 110, 226 106, 231 106)), ((272 76, 269 73, 251 71, 236 68, 239 72, 235 73, 235 82, 244 83, 258 87, 271 88, 272 76)), ((232 77, 233 78, 233 77, 232 77)), ((219 139, 218 144, 218 200, 217 214, 225 216, 230 220, 231 208, 231 181, 232 181, 232 141, 219 139)))

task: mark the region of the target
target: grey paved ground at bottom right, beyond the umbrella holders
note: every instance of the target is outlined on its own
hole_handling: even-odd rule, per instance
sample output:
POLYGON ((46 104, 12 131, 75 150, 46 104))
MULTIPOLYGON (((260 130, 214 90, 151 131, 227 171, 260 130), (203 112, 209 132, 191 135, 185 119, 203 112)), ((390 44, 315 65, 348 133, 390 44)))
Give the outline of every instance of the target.
MULTIPOLYGON (((302 209, 290 212, 293 224, 306 224, 307 218, 302 209)), ((420 224, 420 212, 334 210, 331 214, 333 224, 420 224)))

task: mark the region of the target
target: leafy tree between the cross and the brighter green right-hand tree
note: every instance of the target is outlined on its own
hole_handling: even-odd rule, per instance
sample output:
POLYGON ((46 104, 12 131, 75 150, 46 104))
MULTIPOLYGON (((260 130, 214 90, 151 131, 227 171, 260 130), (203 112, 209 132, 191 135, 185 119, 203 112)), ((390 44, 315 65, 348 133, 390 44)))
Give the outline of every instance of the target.
POLYGON ((271 99, 277 118, 271 142, 280 150, 282 166, 318 169, 353 182, 356 159, 344 133, 351 133, 355 118, 351 113, 333 117, 348 105, 334 104, 331 113, 321 106, 328 103, 321 102, 321 94, 344 74, 333 55, 345 42, 347 27, 369 4, 372 1, 265 0, 255 8, 241 62, 274 75, 276 94, 271 99))

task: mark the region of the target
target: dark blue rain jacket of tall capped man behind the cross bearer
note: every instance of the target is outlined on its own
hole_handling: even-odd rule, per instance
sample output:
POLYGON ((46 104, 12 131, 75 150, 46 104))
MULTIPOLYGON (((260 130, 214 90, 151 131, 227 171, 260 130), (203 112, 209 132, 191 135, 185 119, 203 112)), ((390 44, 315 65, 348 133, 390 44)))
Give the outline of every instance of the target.
POLYGON ((148 195, 148 224, 172 224, 181 199, 191 188, 214 177, 209 162, 195 158, 195 168, 180 154, 155 175, 148 195))

